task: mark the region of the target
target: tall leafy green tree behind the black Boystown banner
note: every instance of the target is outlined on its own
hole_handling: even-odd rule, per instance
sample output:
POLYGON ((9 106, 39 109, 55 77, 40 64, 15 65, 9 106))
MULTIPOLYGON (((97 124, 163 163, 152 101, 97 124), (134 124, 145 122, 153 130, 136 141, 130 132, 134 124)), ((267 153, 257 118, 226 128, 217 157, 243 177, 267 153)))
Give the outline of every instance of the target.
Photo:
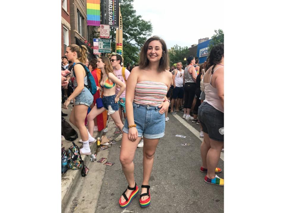
MULTIPOLYGON (((121 14, 123 19, 123 58, 126 64, 137 64, 140 48, 152 33, 150 21, 145 21, 136 15, 132 2, 134 0, 121 0, 121 14)), ((111 50, 115 52, 116 28, 110 28, 111 50)))

